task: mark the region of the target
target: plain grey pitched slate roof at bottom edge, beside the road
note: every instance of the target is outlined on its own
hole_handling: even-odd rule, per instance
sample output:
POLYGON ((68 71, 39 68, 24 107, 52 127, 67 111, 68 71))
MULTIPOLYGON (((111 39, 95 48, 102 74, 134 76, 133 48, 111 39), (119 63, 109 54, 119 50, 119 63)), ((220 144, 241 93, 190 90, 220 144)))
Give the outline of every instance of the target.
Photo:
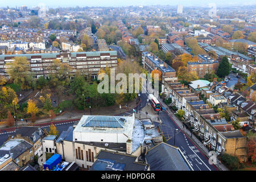
POLYGON ((145 157, 152 171, 191 171, 178 148, 163 142, 152 147, 145 157))

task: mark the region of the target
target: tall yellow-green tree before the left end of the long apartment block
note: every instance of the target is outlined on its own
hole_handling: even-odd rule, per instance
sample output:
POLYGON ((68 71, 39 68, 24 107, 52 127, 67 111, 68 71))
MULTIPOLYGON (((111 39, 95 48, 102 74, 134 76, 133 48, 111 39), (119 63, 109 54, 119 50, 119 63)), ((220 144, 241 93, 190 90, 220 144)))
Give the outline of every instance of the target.
POLYGON ((21 84, 22 89, 28 89, 31 86, 32 76, 29 72, 29 64, 26 57, 15 57, 13 62, 7 63, 10 66, 7 73, 14 84, 21 84))

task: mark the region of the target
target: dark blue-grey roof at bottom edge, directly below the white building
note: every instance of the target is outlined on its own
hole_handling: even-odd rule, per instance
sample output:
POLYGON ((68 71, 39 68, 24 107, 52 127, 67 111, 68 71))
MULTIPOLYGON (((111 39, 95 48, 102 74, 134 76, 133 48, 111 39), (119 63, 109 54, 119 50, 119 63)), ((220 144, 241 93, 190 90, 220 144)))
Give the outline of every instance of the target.
POLYGON ((149 165, 135 162, 137 156, 100 151, 90 171, 147 171, 149 165))

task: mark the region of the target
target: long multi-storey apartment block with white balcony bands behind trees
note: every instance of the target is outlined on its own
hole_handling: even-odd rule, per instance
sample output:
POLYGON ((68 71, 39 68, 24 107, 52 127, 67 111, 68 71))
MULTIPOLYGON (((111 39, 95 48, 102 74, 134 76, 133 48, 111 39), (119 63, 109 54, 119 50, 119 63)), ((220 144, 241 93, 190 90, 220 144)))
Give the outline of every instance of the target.
POLYGON ((0 55, 0 75, 10 78, 7 73, 7 63, 15 60, 15 57, 26 57, 30 65, 30 71, 35 78, 40 76, 48 77, 49 73, 56 72, 51 69, 53 61, 58 59, 71 67, 71 74, 74 76, 77 71, 84 75, 96 77, 100 69, 117 68, 117 51, 97 52, 68 52, 60 53, 36 53, 22 55, 0 55))

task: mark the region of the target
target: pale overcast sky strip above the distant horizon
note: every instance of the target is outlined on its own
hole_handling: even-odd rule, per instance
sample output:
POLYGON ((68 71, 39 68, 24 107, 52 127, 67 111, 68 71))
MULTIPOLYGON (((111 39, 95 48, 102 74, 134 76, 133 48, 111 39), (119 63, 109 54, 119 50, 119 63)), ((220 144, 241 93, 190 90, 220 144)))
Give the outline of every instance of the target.
POLYGON ((253 0, 0 0, 0 7, 16 7, 26 5, 38 6, 44 3, 48 7, 85 7, 85 6, 138 6, 138 5, 177 5, 207 6, 208 3, 222 5, 255 5, 253 0))

